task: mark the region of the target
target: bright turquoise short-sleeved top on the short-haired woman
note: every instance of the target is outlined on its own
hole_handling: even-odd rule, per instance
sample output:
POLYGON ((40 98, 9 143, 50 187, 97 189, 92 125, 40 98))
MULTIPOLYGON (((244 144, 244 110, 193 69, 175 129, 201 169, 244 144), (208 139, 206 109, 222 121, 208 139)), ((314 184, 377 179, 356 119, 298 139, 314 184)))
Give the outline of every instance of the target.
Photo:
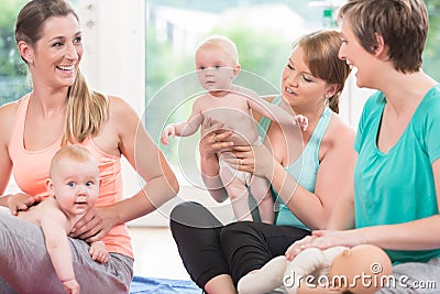
MULTIPOLYGON (((439 214, 431 163, 440 157, 440 86, 427 92, 387 153, 376 144, 385 105, 382 92, 367 100, 354 143, 359 153, 354 171, 358 228, 402 224, 439 214)), ((440 257, 440 249, 387 253, 394 263, 427 262, 440 257)))

